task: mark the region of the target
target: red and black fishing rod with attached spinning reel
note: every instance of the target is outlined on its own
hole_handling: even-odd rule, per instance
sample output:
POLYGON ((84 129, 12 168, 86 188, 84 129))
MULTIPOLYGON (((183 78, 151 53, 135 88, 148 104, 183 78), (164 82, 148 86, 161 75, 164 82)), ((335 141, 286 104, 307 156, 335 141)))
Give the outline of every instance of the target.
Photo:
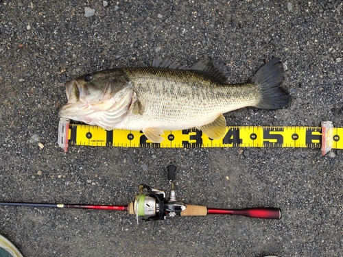
POLYGON ((82 204, 39 204, 39 203, 18 203, 0 202, 0 206, 29 206, 47 208, 81 208, 91 210, 119 210, 127 211, 130 215, 143 218, 143 221, 164 220, 167 216, 206 216, 206 215, 242 215, 258 219, 281 219, 280 208, 245 208, 245 209, 219 209, 208 208, 206 206, 196 206, 184 204, 176 199, 174 190, 174 179, 176 167, 167 167, 168 180, 171 181, 171 191, 169 199, 165 197, 165 191, 151 188, 145 184, 139 185, 139 193, 134 197, 134 201, 126 205, 82 205, 82 204))

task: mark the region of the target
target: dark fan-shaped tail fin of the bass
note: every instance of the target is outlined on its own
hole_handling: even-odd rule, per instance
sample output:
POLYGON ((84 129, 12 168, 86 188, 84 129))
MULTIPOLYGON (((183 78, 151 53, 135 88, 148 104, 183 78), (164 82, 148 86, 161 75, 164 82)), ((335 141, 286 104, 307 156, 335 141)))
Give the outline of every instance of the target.
POLYGON ((252 82, 261 90, 261 100, 256 105, 261 109, 278 109, 289 105, 291 97, 279 88, 283 80, 283 64, 274 58, 264 64, 252 77, 252 82))

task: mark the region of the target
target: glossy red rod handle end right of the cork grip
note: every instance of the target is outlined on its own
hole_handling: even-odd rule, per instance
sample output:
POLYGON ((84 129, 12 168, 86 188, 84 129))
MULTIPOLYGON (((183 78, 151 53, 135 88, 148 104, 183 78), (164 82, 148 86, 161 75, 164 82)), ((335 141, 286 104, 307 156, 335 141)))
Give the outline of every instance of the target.
POLYGON ((281 219, 279 208, 246 208, 241 210, 207 208, 207 214, 243 215, 258 219, 281 219))

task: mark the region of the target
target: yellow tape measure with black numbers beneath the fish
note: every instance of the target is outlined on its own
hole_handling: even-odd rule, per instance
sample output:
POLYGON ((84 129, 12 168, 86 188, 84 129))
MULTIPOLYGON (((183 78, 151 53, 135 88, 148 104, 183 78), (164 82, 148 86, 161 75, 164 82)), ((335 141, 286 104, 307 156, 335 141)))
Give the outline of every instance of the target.
POLYGON ((312 147, 322 148, 323 154, 331 148, 343 149, 343 128, 333 127, 330 121, 323 122, 322 127, 226 127, 226 134, 220 140, 213 140, 196 129, 165 131, 161 143, 152 143, 140 131, 106 131, 93 125, 69 125, 69 121, 64 121, 62 129, 60 121, 59 132, 62 136, 59 136, 58 143, 64 151, 67 151, 66 145, 161 148, 312 147))

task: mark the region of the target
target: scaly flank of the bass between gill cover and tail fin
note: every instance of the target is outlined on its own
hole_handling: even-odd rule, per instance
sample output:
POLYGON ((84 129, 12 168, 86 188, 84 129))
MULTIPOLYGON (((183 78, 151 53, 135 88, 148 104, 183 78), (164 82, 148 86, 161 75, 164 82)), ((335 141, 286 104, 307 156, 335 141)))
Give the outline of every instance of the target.
MULTIPOLYGON (((253 106, 259 99, 259 92, 253 84, 217 84, 194 71, 150 67, 124 68, 122 71, 134 83, 144 106, 143 115, 129 114, 128 124, 129 121, 150 119, 165 129, 170 125, 162 123, 187 119, 191 123, 189 127, 196 127, 200 125, 199 119, 206 124, 224 112, 253 106)), ((174 130, 181 127, 184 126, 173 125, 174 130)))

